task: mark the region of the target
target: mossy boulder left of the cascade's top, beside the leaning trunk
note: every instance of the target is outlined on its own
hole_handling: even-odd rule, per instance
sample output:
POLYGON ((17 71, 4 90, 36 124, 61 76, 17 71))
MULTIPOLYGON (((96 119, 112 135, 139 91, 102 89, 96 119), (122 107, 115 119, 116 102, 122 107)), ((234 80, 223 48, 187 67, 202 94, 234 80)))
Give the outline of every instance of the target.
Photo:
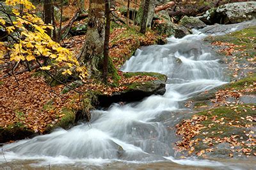
POLYGON ((167 11, 159 11, 155 16, 153 28, 156 29, 158 34, 165 34, 166 36, 175 36, 175 38, 182 38, 191 32, 182 25, 174 24, 167 13, 167 11))

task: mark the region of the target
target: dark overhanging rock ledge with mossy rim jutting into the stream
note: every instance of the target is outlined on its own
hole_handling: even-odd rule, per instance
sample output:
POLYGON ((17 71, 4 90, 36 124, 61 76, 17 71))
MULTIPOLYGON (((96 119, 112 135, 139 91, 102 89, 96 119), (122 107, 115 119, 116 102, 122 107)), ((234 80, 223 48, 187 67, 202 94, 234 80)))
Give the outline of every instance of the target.
POLYGON ((163 95, 165 93, 167 76, 160 73, 124 73, 124 76, 127 77, 138 75, 154 76, 157 80, 128 84, 127 90, 115 92, 110 96, 106 94, 97 94, 99 106, 109 106, 110 104, 117 102, 140 101, 144 97, 148 97, 152 94, 163 95))

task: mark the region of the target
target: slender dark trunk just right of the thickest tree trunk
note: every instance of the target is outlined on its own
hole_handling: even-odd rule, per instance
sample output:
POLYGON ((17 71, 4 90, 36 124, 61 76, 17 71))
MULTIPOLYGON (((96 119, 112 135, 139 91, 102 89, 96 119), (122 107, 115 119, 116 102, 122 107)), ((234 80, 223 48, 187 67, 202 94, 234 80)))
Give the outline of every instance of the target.
POLYGON ((108 58, 109 58, 109 35, 110 35, 110 3, 106 0, 105 4, 105 15, 106 15, 106 25, 105 25, 105 39, 104 39, 104 59, 103 59, 103 71, 102 76, 105 83, 108 81, 108 58))

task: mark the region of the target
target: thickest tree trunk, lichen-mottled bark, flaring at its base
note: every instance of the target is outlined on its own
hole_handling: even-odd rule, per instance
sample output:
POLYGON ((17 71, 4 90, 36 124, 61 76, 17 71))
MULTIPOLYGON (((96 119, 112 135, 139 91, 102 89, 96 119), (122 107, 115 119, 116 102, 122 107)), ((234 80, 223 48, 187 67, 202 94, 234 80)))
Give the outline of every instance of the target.
POLYGON ((105 35, 104 3, 104 0, 90 0, 86 39, 78 56, 79 62, 86 65, 90 75, 99 75, 99 70, 102 68, 105 35))

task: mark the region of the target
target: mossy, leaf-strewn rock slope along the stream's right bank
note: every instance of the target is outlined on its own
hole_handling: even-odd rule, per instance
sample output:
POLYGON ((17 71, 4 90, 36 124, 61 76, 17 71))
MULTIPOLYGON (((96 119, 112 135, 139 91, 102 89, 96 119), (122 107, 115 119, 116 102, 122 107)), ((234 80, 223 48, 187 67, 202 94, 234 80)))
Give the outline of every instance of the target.
POLYGON ((232 81, 213 94, 204 92, 209 99, 186 103, 199 112, 176 125, 181 157, 256 156, 255 32, 256 27, 250 27, 211 38, 232 81))

